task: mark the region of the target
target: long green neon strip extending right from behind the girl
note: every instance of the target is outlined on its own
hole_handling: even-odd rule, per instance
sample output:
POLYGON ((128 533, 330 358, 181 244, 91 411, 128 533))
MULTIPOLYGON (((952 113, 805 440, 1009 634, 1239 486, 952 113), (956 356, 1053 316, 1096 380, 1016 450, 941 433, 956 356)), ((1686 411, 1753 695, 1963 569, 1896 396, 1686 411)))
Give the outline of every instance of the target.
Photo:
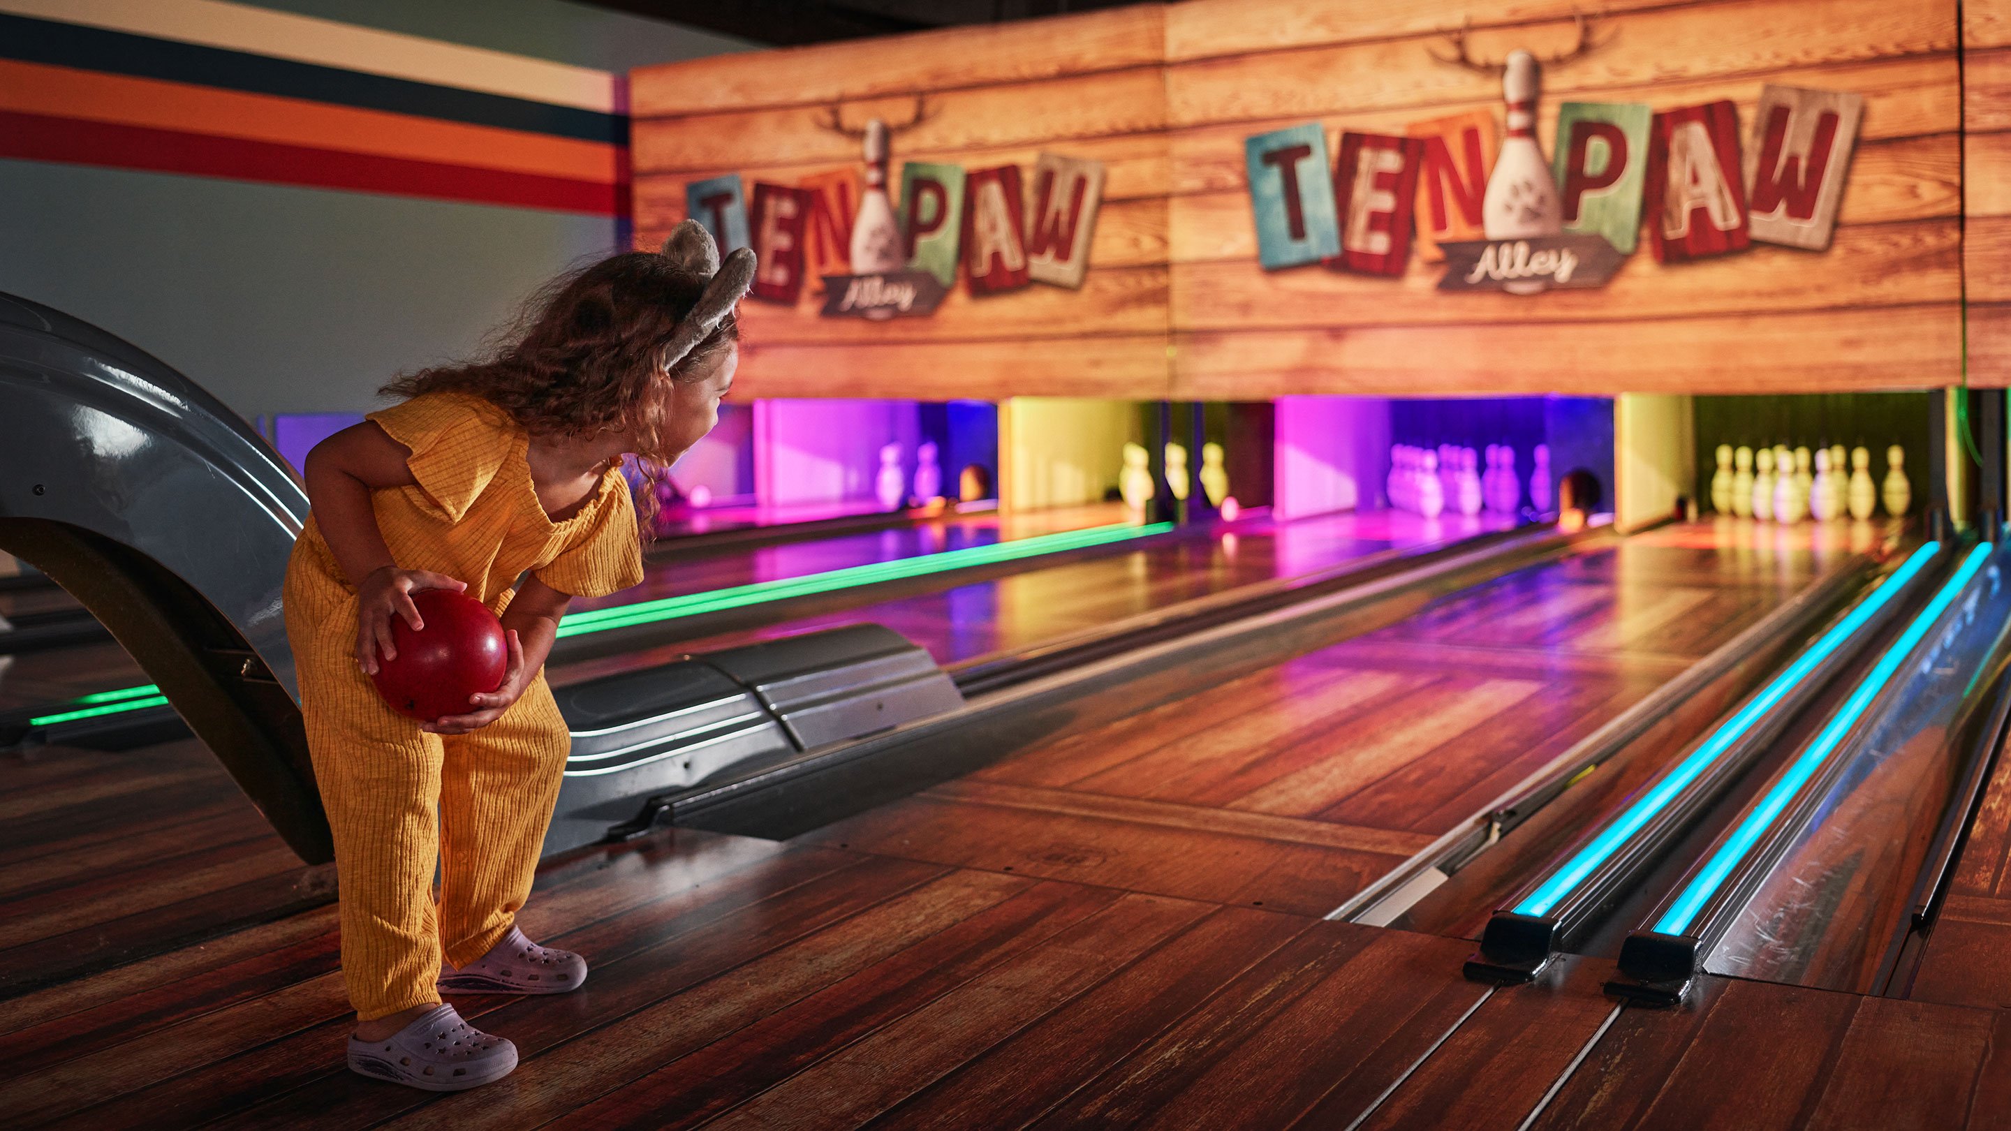
POLYGON ((1136 537, 1150 537, 1156 533, 1166 533, 1170 529, 1172 523, 1104 525, 1104 527, 1076 529, 1064 533, 1046 533, 1040 537, 1024 537, 1018 541, 995 541, 991 545, 967 545, 963 549, 947 549, 943 553, 925 553, 921 557, 903 557, 897 561, 847 566, 845 570, 829 570, 825 574, 806 574, 802 578, 782 578, 776 582, 754 582, 750 586, 732 586, 728 590, 710 590, 704 594, 686 594, 680 598, 662 598, 654 602, 595 608, 587 612, 575 612, 573 616, 567 616, 563 622, 559 622, 559 638, 583 636, 589 632, 607 632, 613 628, 629 628, 635 624, 658 624, 664 620, 678 620, 684 616, 700 616, 706 612, 724 612, 732 608, 746 608, 786 598, 829 594, 837 590, 851 590, 857 586, 875 586, 881 582, 899 582, 903 578, 923 578, 929 574, 945 574, 949 570, 969 570, 973 566, 1018 561, 1022 557, 1040 557, 1044 553, 1088 549, 1092 545, 1110 545, 1118 541, 1130 541, 1136 537))

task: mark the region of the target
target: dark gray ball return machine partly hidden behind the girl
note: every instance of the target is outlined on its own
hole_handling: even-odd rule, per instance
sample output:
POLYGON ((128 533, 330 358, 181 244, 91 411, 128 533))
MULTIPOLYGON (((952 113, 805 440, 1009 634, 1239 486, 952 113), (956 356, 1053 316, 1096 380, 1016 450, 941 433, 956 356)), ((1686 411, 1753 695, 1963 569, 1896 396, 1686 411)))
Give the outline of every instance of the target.
MULTIPOLYGON (((0 294, 0 549, 48 574, 161 686, 286 843, 334 857, 280 588, 308 497, 159 358, 0 294)), ((573 759, 545 851, 633 833, 670 791, 963 698, 927 652, 849 626, 557 688, 573 759), (639 817, 642 815, 642 817, 639 817)))

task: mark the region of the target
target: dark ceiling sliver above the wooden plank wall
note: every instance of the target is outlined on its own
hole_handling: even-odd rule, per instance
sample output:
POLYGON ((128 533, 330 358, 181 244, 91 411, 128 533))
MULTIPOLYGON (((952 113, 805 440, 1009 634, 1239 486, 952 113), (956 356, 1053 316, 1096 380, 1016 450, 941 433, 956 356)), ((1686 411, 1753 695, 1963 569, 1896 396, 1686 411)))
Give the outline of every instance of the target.
POLYGON ((599 8, 676 20, 710 32, 748 38, 770 46, 855 40, 953 28, 1003 24, 1122 8, 1138 0, 587 0, 599 8))

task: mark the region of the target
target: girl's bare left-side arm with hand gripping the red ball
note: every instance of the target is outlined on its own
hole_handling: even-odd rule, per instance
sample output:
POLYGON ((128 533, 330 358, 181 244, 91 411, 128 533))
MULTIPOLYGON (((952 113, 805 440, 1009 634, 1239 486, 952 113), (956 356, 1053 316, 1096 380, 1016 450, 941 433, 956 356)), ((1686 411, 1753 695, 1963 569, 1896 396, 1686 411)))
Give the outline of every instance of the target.
MULTIPOLYGON (((370 491, 416 483, 404 465, 412 451, 390 439, 374 421, 342 429, 308 453, 304 477, 314 525, 322 527, 342 574, 356 584, 356 664, 376 674, 378 652, 398 658, 390 642, 390 618, 402 616, 414 630, 424 628, 414 590, 467 590, 446 574, 400 570, 384 545, 384 531, 370 509, 370 491)), ((547 642, 549 648, 549 642, 547 642)))

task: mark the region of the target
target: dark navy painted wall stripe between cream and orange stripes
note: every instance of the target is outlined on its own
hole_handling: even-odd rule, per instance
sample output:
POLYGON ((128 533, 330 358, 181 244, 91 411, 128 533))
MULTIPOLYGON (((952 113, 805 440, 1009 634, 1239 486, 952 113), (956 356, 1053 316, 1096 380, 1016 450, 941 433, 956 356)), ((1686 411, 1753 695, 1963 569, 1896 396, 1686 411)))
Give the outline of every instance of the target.
POLYGON ((0 58, 627 145, 621 115, 4 12, 0 58))

